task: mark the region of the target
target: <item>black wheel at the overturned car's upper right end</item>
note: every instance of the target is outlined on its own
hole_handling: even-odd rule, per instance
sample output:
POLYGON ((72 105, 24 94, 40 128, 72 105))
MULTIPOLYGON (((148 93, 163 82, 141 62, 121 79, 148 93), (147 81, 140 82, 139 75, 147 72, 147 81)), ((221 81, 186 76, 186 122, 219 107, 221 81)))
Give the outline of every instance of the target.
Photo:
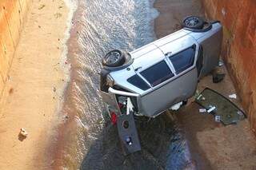
POLYGON ((183 19, 182 27, 193 29, 193 30, 201 30, 204 26, 204 20, 197 16, 189 16, 183 19))

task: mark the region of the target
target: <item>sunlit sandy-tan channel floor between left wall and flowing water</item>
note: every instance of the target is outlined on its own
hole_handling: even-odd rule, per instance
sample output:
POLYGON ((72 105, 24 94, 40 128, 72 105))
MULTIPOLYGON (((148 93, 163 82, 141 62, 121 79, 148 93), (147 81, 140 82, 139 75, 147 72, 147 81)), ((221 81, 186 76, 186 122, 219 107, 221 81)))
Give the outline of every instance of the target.
POLYGON ((49 168, 54 127, 67 81, 69 9, 63 0, 33 1, 15 49, 0 113, 0 168, 49 168), (19 135, 20 128, 28 132, 19 135))

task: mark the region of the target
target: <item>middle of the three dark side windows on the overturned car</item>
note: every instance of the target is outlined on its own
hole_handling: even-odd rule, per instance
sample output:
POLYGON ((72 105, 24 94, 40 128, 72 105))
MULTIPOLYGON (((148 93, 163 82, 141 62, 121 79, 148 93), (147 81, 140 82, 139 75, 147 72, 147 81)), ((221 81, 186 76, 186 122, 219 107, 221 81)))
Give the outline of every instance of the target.
POLYGON ((158 64, 143 70, 141 74, 153 87, 159 85, 163 81, 166 81, 170 77, 174 77, 174 73, 170 71, 166 61, 158 62, 158 64))

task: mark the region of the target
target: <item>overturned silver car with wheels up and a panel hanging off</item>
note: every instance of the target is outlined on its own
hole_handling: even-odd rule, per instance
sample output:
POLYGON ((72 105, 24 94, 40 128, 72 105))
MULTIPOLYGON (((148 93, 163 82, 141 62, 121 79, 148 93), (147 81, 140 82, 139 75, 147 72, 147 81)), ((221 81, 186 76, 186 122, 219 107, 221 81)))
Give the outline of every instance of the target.
POLYGON ((182 30, 130 53, 115 49, 102 58, 100 92, 125 153, 141 149, 135 116, 157 117, 186 101, 198 80, 218 65, 220 22, 190 16, 182 30))

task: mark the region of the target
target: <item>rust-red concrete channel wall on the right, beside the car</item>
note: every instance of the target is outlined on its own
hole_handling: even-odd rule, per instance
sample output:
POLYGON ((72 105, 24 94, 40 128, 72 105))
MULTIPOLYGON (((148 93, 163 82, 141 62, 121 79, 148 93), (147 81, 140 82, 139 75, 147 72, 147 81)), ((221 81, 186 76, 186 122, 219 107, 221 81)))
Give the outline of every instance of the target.
POLYGON ((222 57, 256 133, 256 1, 202 0, 208 18, 223 24, 222 57))

